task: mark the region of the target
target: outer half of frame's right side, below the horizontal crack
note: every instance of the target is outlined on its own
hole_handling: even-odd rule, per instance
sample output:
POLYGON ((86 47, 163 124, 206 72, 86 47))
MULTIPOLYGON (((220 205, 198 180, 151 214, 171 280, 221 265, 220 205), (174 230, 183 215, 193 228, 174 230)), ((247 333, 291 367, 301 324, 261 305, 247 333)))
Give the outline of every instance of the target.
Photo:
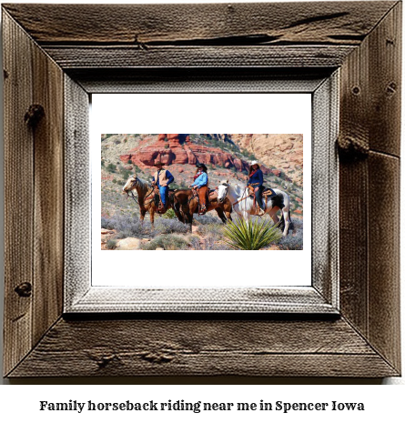
POLYGON ((370 154, 368 195, 369 337, 371 345, 400 370, 400 314, 393 311, 400 309, 400 160, 398 158, 380 153, 370 154))

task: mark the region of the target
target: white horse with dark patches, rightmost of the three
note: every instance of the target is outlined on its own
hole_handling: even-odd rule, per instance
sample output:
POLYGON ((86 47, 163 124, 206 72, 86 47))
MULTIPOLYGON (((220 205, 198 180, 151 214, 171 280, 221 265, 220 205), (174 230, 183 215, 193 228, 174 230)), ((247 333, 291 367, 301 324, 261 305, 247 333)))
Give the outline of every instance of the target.
MULTIPOLYGON (((278 222, 280 222, 277 212, 278 210, 281 210, 282 215, 280 229, 283 231, 283 237, 286 237, 289 233, 289 229, 292 229, 289 212, 289 195, 279 189, 274 189, 274 192, 277 196, 268 198, 267 204, 265 205, 266 213, 277 225, 278 222)), ((247 222, 250 215, 255 215, 256 207, 254 206, 253 198, 249 196, 249 190, 246 186, 228 184, 228 179, 220 182, 218 186, 218 203, 223 202, 227 197, 231 202, 233 209, 247 222)), ((265 201, 265 198, 263 198, 263 203, 265 203, 265 201)))

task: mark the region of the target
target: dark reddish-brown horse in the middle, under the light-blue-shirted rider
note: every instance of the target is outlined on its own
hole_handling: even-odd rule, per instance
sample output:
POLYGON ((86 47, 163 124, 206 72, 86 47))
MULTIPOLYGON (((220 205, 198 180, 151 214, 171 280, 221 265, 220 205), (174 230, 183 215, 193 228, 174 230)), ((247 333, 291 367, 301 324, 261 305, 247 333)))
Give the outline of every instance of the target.
MULTIPOLYGON (((194 195, 192 189, 179 189, 174 195, 174 210, 183 215, 183 223, 188 223, 191 227, 193 223, 193 215, 197 213, 198 197, 194 195)), ((218 203, 218 191, 209 193, 209 204, 207 211, 215 210, 222 223, 232 221, 230 214, 232 213, 232 205, 226 199, 222 203, 218 203)))

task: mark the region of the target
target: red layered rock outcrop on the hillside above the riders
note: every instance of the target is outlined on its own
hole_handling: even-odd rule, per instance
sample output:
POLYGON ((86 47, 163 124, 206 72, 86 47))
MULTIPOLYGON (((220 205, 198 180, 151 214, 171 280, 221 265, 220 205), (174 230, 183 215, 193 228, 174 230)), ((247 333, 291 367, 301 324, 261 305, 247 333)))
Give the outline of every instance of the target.
MULTIPOLYGON (((228 134, 219 134, 224 137, 217 137, 225 141, 228 134)), ((126 155, 119 156, 120 160, 127 164, 129 160, 134 165, 143 168, 154 166, 160 161, 164 165, 196 165, 197 163, 209 163, 215 166, 226 168, 235 167, 238 172, 248 171, 248 162, 232 154, 213 146, 193 144, 188 134, 159 134, 144 138, 137 148, 134 148, 126 155)), ((262 166, 262 171, 268 174, 270 170, 262 166)))

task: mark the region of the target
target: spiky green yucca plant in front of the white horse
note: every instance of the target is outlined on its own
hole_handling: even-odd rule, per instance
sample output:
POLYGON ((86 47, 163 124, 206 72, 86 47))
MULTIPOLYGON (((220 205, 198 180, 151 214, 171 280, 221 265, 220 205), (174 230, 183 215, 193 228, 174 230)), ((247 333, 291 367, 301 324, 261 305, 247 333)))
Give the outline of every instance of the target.
POLYGON ((238 219, 229 222, 224 229, 224 235, 228 239, 225 242, 233 249, 258 250, 267 247, 272 242, 278 242, 281 231, 273 226, 271 221, 257 219, 255 221, 238 219))

